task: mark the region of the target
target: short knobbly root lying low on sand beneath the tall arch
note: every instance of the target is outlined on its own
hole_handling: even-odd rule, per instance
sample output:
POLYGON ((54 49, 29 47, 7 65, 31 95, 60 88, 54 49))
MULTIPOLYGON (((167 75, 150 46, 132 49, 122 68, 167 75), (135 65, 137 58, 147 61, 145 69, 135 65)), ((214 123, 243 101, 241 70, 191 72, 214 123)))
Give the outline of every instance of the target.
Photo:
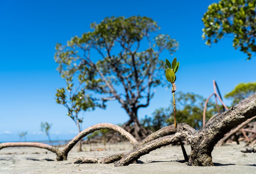
POLYGON ((74 159, 71 164, 84 164, 84 163, 104 163, 104 164, 109 164, 113 163, 115 161, 120 160, 121 158, 124 157, 127 153, 123 152, 120 154, 114 154, 110 155, 101 159, 98 158, 76 158, 74 159))

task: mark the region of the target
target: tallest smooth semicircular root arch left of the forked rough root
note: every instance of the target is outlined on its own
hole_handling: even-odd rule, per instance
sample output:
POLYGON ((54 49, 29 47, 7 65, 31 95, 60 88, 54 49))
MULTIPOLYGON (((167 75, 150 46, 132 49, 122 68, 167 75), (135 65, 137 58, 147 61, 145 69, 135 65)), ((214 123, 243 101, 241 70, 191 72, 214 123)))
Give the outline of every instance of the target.
POLYGON ((123 135, 127 140, 130 141, 130 143, 135 146, 138 141, 126 130, 124 130, 123 128, 121 128, 118 125, 114 125, 111 123, 99 123, 97 125, 91 126, 87 129, 84 129, 82 132, 80 132, 77 136, 75 136, 64 148, 64 150, 62 151, 66 156, 68 154, 68 152, 74 147, 74 145, 81 140, 83 137, 85 137, 86 135, 88 135, 89 133, 92 133, 96 130, 100 130, 100 129, 110 129, 110 130, 114 130, 118 133, 120 133, 121 135, 123 135))

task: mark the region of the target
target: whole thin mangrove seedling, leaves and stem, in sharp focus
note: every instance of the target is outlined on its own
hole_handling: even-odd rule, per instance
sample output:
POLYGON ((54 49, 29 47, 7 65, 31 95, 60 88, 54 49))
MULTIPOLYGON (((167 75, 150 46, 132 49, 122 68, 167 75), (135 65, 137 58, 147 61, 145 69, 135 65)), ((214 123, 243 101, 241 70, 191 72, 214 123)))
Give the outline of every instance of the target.
MULTIPOLYGON (((170 64, 169 60, 165 59, 166 61, 166 65, 169 67, 166 69, 165 72, 165 77, 166 79, 172 83, 172 93, 173 93, 173 111, 174 111, 174 126, 175 129, 177 128, 177 123, 176 123, 176 115, 175 115, 175 99, 174 99, 174 92, 176 91, 176 85, 175 85, 175 81, 176 81, 176 75, 175 73, 178 71, 179 69, 179 62, 177 62, 177 58, 175 57, 172 61, 172 64, 170 64)), ((183 156, 184 159, 186 161, 188 161, 188 155, 186 153, 186 150, 183 146, 182 141, 179 142, 180 146, 182 148, 182 152, 183 152, 183 156)))

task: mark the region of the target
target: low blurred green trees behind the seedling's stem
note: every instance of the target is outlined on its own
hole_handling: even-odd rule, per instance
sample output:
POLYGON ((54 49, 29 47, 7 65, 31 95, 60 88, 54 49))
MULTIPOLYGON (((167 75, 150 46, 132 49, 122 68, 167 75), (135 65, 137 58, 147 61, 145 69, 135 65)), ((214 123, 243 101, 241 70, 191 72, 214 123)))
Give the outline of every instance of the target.
MULTIPOLYGON (((196 130, 202 127, 203 108, 206 98, 194 94, 177 92, 176 97, 176 120, 184 122, 195 128, 196 130)), ((221 107, 221 106, 220 106, 221 107)), ((209 101, 207 104, 206 120, 217 113, 214 102, 209 101)), ((141 120, 142 126, 152 131, 157 131, 162 127, 172 125, 174 123, 173 104, 172 101, 167 108, 159 108, 154 111, 152 117, 145 117, 141 120)))

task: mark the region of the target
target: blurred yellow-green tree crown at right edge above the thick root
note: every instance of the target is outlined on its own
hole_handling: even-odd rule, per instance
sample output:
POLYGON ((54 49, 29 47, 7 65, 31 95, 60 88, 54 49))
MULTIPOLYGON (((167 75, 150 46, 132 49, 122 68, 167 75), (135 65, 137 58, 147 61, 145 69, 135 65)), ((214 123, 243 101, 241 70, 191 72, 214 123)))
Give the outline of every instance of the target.
POLYGON ((250 95, 256 92, 256 82, 249 83, 239 83, 236 85, 235 89, 227 93, 224 97, 232 99, 232 105, 236 105, 241 102, 243 99, 249 97, 250 95))

